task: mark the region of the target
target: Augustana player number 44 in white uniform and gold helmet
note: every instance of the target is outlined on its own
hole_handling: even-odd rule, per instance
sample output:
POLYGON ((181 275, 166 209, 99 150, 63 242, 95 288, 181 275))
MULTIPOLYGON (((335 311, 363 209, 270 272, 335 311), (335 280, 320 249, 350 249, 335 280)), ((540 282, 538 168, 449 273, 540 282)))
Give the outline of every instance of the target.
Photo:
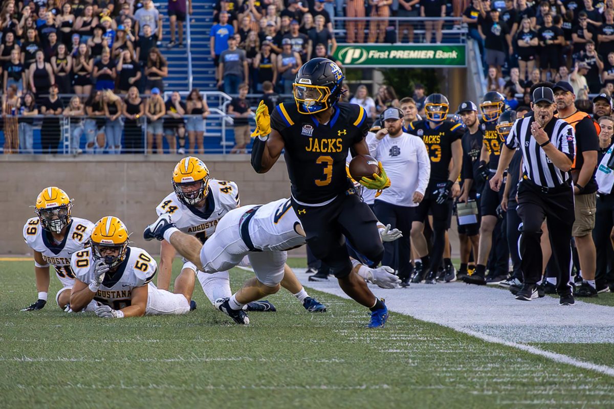
MULTIPOLYGON (((235 182, 212 179, 209 169, 198 158, 188 156, 181 159, 173 170, 173 193, 163 199, 156 208, 159 215, 168 213, 173 218, 179 231, 195 236, 206 242, 216 230, 223 215, 239 206, 239 191, 235 182)), ((176 254, 168 242, 161 242, 160 277, 158 286, 168 288, 171 276, 171 264, 176 254)), ((192 294, 195 277, 203 287, 206 296, 214 304, 216 299, 230 297, 230 280, 227 270, 203 273, 198 267, 184 259, 181 274, 175 280, 175 292, 192 294)), ((290 267, 282 286, 292 292, 309 312, 324 312, 326 307, 309 297, 297 280, 290 267)), ((254 301, 246 305, 247 311, 275 311, 273 304, 266 300, 254 301)))

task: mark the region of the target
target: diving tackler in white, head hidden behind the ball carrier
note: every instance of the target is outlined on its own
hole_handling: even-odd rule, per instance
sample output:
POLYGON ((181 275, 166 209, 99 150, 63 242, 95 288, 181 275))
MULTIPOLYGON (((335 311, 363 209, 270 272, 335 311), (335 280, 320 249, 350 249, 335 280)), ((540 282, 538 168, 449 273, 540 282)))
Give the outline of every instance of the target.
MULTIPOLYGON (((392 241, 400 237, 399 231, 382 227, 383 240, 392 241)), ((179 231, 168 213, 147 226, 143 237, 145 240, 166 240, 205 273, 231 269, 247 256, 256 277, 248 280, 233 296, 216 300, 216 307, 239 324, 249 323, 243 305, 279 291, 286 266, 286 251, 305 244, 303 226, 289 199, 231 210, 219 221, 216 232, 204 244, 179 231)), ((354 262, 356 272, 380 286, 390 288, 400 282, 389 267, 375 270, 360 267, 359 262, 354 262)))

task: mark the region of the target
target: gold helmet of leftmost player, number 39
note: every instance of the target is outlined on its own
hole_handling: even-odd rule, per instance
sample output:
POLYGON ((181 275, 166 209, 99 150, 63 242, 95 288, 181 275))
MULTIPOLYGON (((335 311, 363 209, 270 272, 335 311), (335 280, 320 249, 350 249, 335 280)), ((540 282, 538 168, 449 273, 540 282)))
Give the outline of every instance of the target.
POLYGON ((43 229, 60 233, 71 224, 71 198, 60 188, 49 186, 36 198, 35 212, 43 229))

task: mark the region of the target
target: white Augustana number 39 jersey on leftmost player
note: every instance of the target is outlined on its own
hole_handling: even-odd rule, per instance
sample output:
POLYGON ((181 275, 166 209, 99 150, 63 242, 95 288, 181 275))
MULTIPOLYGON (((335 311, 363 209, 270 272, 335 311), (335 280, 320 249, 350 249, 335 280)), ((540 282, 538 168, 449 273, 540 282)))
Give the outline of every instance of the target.
POLYGON ((71 254, 87 245, 93 228, 91 221, 73 217, 64 241, 56 244, 51 233, 41 227, 39 218, 33 217, 23 226, 23 239, 29 248, 42 254, 45 262, 55 267, 64 286, 72 286, 75 277, 71 271, 71 254))

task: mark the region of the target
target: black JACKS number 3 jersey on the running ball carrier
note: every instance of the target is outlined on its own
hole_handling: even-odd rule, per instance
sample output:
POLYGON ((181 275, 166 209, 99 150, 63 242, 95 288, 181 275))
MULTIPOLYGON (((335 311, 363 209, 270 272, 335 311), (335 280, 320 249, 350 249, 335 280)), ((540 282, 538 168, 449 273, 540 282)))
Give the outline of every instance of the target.
POLYGON ((327 124, 298 112, 296 104, 279 104, 271 113, 271 128, 286 145, 284 158, 292 196, 316 204, 351 188, 346 174, 348 151, 369 131, 367 112, 355 104, 338 103, 327 124))

